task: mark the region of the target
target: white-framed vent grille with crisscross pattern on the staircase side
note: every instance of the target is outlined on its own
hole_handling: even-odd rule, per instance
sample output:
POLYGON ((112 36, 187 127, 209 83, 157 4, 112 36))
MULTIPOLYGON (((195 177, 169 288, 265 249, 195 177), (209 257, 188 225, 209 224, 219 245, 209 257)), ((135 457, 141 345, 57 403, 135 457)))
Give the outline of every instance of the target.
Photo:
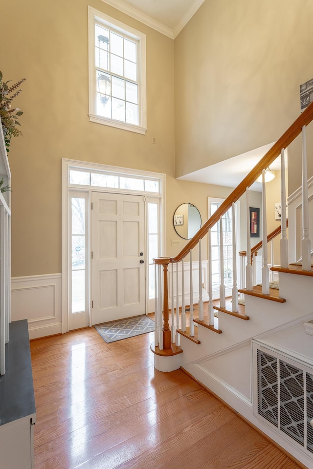
POLYGON ((267 353, 258 349, 256 358, 254 411, 305 451, 313 453, 312 370, 270 350, 267 353))

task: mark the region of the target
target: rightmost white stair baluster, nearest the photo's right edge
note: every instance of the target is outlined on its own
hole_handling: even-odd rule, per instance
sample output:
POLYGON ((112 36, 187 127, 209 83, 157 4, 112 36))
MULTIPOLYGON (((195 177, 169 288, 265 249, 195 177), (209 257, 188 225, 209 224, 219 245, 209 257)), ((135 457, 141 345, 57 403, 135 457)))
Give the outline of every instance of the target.
POLYGON ((306 129, 302 127, 302 269, 311 270, 306 129))

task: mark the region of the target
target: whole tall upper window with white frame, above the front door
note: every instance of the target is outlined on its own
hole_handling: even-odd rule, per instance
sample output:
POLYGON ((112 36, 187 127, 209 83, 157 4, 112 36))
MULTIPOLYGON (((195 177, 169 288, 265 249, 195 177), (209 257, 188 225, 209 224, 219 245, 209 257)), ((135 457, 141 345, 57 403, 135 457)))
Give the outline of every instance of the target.
POLYGON ((145 35, 89 7, 89 119, 146 131, 145 35))

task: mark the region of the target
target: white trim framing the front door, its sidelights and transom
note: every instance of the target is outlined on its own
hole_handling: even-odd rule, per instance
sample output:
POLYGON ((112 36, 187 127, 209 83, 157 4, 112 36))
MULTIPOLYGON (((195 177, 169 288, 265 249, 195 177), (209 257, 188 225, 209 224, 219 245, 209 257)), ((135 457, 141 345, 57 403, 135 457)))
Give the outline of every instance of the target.
MULTIPOLYGON (((80 160, 71 160, 67 158, 62 158, 62 215, 61 215, 61 223, 62 223, 62 239, 61 239, 61 249, 62 249, 62 334, 68 332, 68 292, 69 292, 69 285, 68 285, 68 271, 69 271, 69 261, 68 261, 68 195, 71 190, 76 190, 80 192, 117 192, 117 193, 132 193, 134 195, 143 195, 147 198, 151 197, 158 197, 160 199, 160 225, 161 225, 161 256, 163 256, 164 248, 165 248, 165 233, 166 233, 166 226, 165 226, 165 174, 162 173, 155 173, 151 171, 140 171, 130 168, 121 168, 118 166, 108 166, 102 165, 99 163, 91 163, 87 161, 80 161, 80 160), (96 188, 90 186, 83 186, 83 185, 76 185, 73 184, 69 185, 68 183, 68 173, 69 169, 86 169, 89 171, 110 171, 115 172, 123 175, 129 176, 143 176, 143 177, 150 177, 150 178, 157 178, 160 184, 160 192, 152 193, 152 192, 144 192, 144 191, 127 191, 127 190, 119 190, 119 189, 112 189, 112 188, 96 188)), ((90 264, 90 261, 89 261, 90 264)), ((89 278, 90 278, 90 265, 89 265, 89 278)), ((89 282, 89 291, 91 285, 89 282)), ((146 289, 147 289, 147 281, 146 281, 146 289)), ((90 297, 90 295, 89 295, 90 297)), ((91 304, 89 305, 89 326, 90 322, 90 309, 91 304)))

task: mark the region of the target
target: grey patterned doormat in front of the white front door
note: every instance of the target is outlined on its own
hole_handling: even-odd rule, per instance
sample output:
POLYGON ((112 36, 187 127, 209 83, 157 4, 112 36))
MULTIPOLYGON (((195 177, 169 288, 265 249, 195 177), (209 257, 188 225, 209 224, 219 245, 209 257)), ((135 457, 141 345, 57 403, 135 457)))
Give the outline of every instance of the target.
POLYGON ((94 326, 94 328, 104 341, 110 343, 153 332, 155 330, 155 321, 143 315, 119 321, 104 322, 94 326))

